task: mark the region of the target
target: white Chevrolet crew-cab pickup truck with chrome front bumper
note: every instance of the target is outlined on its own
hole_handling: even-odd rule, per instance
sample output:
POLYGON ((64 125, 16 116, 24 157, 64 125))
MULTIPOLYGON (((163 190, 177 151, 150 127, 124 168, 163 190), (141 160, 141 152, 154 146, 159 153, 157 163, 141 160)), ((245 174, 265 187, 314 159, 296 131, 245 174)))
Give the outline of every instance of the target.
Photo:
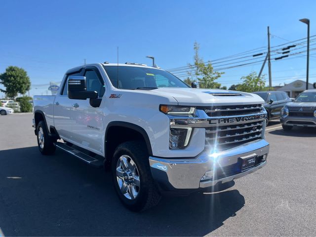
POLYGON ((34 97, 33 123, 43 155, 58 147, 111 168, 122 203, 141 211, 161 194, 214 190, 262 168, 263 103, 146 65, 90 64, 67 71, 56 96, 34 97))

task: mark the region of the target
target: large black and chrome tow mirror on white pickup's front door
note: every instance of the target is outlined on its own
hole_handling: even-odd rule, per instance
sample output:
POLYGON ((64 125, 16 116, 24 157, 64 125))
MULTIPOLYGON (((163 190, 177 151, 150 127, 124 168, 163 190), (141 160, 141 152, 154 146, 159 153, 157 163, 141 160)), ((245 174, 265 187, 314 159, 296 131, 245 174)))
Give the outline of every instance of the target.
POLYGON ((87 91, 85 77, 70 76, 68 79, 68 98, 75 100, 96 99, 98 92, 87 91))

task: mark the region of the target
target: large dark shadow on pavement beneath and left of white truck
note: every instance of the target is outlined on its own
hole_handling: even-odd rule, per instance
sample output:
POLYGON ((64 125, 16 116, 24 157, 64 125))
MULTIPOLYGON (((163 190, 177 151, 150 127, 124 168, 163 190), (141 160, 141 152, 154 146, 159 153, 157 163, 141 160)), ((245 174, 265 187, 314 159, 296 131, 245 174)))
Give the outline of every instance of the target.
POLYGON ((110 173, 62 151, 0 151, 0 228, 5 236, 204 236, 243 207, 234 189, 163 197, 142 213, 125 209, 110 173))

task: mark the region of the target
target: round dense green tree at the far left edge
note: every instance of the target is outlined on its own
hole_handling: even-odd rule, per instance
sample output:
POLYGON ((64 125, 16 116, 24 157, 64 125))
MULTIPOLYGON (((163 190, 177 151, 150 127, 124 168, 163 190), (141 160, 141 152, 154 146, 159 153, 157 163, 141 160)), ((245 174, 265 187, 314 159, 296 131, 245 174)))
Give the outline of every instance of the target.
POLYGON ((31 81, 23 68, 9 66, 0 74, 0 83, 5 90, 0 89, 7 97, 14 99, 15 96, 25 94, 31 88, 31 81))

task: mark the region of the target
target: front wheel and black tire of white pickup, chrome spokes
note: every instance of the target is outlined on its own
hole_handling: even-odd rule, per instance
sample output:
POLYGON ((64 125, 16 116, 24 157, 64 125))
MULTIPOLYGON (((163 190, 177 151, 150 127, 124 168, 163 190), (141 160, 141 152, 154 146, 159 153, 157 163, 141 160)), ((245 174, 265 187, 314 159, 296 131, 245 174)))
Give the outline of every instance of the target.
POLYGON ((129 141, 118 145, 111 169, 114 188, 125 207, 143 211, 158 204, 160 194, 154 183, 146 145, 129 141))

